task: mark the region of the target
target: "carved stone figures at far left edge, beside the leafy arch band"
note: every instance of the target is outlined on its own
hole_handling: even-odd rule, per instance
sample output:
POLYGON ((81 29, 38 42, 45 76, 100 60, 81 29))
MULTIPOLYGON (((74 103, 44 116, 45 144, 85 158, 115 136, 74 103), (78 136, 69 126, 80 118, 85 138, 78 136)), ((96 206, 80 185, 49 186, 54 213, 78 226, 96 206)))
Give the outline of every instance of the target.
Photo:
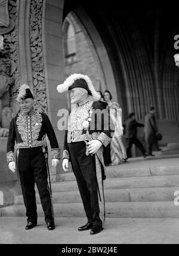
POLYGON ((16 96, 20 86, 17 55, 17 1, 0 0, 0 136, 8 135, 11 119, 20 107, 16 96))

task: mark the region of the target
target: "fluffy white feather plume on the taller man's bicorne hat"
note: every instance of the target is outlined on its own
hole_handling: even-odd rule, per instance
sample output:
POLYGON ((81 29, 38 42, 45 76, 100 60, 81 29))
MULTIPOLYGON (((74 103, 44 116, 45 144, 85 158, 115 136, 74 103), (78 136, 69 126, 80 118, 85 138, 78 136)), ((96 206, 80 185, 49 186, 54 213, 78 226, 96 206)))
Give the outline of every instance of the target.
POLYGON ((93 98, 94 101, 100 100, 100 94, 98 94, 98 92, 95 91, 94 86, 92 85, 92 82, 91 82, 90 78, 86 75, 83 75, 83 74, 72 74, 72 75, 70 75, 69 77, 67 77, 67 79, 64 81, 64 83, 57 86, 57 91, 60 92, 60 93, 68 91, 69 87, 71 85, 73 85, 73 83, 77 79, 84 79, 87 82, 88 88, 91 91, 92 98, 93 98))

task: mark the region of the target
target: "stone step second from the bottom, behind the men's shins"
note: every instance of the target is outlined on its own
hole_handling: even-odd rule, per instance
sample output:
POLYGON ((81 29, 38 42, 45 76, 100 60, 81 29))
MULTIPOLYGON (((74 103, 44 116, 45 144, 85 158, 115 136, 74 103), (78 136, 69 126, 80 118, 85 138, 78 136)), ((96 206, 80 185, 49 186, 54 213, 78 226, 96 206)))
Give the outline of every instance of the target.
MULTIPOLYGON (((105 189, 106 202, 138 202, 138 201, 174 201, 174 192, 179 186, 172 188, 131 188, 105 189)), ((179 193, 178 193, 179 194, 179 193)), ((53 192, 53 203, 81 203, 79 191, 53 192)), ((39 194, 36 194, 36 203, 41 204, 39 194)), ((22 195, 14 198, 14 204, 24 204, 22 195)))

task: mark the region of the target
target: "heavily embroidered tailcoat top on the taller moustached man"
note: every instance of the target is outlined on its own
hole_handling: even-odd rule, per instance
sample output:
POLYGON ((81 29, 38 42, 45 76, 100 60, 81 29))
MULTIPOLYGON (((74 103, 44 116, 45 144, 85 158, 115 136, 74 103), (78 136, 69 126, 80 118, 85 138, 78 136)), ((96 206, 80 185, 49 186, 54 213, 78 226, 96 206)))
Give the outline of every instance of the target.
POLYGON ((98 101, 86 99, 76 104, 69 116, 63 158, 70 158, 67 143, 97 139, 106 147, 112 140, 110 132, 109 115, 98 101), (84 128, 84 122, 89 123, 88 128, 84 128))

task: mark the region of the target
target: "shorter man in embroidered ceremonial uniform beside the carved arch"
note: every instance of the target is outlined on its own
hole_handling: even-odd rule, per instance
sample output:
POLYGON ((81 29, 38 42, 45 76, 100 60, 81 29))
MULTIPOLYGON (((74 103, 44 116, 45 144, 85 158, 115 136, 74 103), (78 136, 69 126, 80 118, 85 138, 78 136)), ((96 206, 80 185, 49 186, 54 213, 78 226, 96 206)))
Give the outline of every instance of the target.
POLYGON ((21 112, 11 120, 7 141, 7 162, 11 171, 19 176, 26 206, 26 230, 37 225, 35 183, 41 198, 48 230, 55 228, 53 204, 48 186, 48 173, 43 152, 43 140, 47 134, 52 150, 52 165, 60 159, 57 138, 48 116, 33 109, 34 98, 28 85, 22 85, 17 97, 21 112), (14 146, 16 142, 16 164, 14 146))

